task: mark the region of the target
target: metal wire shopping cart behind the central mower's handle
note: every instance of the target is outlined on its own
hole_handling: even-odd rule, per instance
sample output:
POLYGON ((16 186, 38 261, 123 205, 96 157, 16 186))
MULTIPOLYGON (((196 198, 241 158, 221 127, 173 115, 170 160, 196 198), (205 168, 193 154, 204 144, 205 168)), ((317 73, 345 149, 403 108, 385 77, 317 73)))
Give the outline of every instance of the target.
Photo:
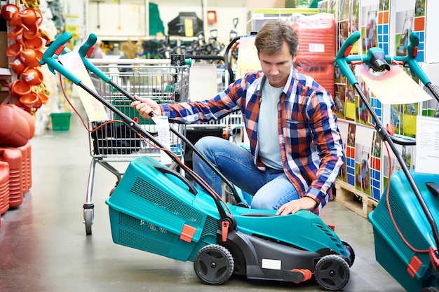
MULTIPOLYGON (((149 97, 158 104, 186 101, 189 84, 189 67, 187 65, 163 64, 163 60, 94 60, 95 67, 105 74, 114 83, 119 84, 126 92, 131 92, 139 97, 149 97)), ((139 113, 130 107, 132 102, 114 85, 111 85, 93 71, 90 77, 97 93, 107 102, 114 105, 126 116, 137 120, 144 130, 157 132, 156 125, 142 118, 139 113)), ((107 109, 109 120, 121 120, 121 116, 107 109)), ((90 129, 100 126, 100 123, 89 121, 90 129)), ((185 126, 172 124, 175 130, 185 131, 185 126)), ((86 202, 84 203, 84 220, 86 223, 86 233, 91 234, 91 224, 93 223, 93 181, 95 176, 96 164, 112 172, 116 176, 116 185, 123 175, 114 165, 119 162, 130 162, 140 155, 149 155, 157 160, 161 160, 161 153, 157 148, 147 144, 135 132, 123 125, 123 123, 111 123, 100 127, 89 134, 90 172, 88 175, 86 202), (91 212, 89 210, 92 210, 91 212)), ((170 132, 170 148, 179 157, 184 157, 184 145, 182 139, 170 132)), ((166 163, 165 163, 166 164, 166 163)), ((171 165, 173 167, 175 165, 171 165)))

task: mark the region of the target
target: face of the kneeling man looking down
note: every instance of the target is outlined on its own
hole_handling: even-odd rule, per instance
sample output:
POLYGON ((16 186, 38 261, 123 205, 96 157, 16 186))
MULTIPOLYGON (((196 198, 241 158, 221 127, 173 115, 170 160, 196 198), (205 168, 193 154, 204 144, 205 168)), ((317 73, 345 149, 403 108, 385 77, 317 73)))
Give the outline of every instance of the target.
POLYGON ((287 43, 283 43, 282 50, 273 55, 259 53, 259 62, 271 86, 281 88, 287 82, 294 58, 290 54, 287 43))

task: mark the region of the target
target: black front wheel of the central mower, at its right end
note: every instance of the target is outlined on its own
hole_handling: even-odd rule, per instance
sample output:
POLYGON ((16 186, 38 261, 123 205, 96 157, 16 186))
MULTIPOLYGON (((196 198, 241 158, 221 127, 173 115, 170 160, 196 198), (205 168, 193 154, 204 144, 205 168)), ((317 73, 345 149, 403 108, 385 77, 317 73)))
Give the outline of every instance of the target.
POLYGON ((318 260, 314 277, 317 284, 327 291, 342 290, 349 281, 349 265, 341 256, 330 254, 318 260))

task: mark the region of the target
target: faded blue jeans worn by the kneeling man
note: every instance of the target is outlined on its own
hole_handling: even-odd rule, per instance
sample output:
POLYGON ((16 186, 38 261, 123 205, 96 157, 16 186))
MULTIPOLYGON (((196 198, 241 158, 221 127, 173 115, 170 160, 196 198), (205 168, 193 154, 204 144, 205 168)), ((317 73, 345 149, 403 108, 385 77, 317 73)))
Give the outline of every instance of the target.
MULTIPOLYGON (((297 190, 281 170, 258 169, 250 151, 218 137, 203 137, 195 144, 200 151, 231 183, 252 195, 252 209, 279 209, 291 200, 299 199, 297 190)), ((222 181, 195 153, 194 172, 219 195, 222 181)))

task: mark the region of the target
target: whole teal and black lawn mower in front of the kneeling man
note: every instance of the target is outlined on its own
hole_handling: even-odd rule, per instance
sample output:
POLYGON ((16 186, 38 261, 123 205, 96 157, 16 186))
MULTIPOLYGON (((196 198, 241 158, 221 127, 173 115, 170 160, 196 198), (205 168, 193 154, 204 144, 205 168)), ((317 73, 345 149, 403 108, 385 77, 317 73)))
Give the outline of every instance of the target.
MULTIPOLYGON (((71 37, 69 33, 58 37, 44 53, 41 64, 86 90, 131 130, 166 149, 56 60, 54 54, 65 52, 63 46, 71 37)), ((87 51, 95 40, 95 35, 90 35, 83 50, 87 51)), ((127 98, 134 100, 130 95, 127 98)), ((174 132, 173 127, 170 131, 174 132)), ((224 179, 184 135, 174 133, 224 179)), ((193 261, 196 275, 205 284, 223 284, 231 274, 240 274, 249 279, 294 283, 314 277, 321 288, 329 291, 346 286, 355 259, 353 248, 319 216, 303 210, 277 216, 275 210, 226 203, 171 152, 166 151, 200 187, 154 158, 135 158, 106 200, 116 244, 193 261)), ((233 188, 229 181, 224 179, 224 183, 233 188)))

